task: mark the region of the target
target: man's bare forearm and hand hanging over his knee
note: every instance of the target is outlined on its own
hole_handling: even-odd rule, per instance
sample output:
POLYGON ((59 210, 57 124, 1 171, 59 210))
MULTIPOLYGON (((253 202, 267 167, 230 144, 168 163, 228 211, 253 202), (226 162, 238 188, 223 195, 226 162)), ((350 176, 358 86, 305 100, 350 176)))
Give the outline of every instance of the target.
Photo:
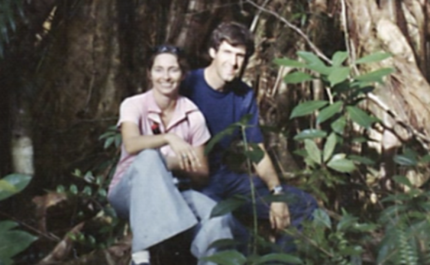
MULTIPOLYGON (((264 152, 263 159, 255 165, 258 177, 260 177, 272 191, 274 187, 280 185, 280 179, 276 174, 272 160, 264 148, 264 144, 258 144, 258 147, 264 152)), ((272 229, 281 230, 290 224, 290 212, 286 202, 274 201, 270 204, 270 223, 272 229)))

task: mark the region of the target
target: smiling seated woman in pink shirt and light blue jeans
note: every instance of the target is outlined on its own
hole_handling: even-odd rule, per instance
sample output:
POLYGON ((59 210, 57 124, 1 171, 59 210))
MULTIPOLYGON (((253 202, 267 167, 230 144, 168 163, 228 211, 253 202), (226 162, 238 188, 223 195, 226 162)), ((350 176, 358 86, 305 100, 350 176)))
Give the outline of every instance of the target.
POLYGON ((179 49, 158 46, 148 73, 152 88, 121 104, 117 125, 123 145, 108 194, 118 215, 129 218, 135 265, 149 265, 149 247, 197 224, 191 248, 197 258, 215 251, 208 249, 212 242, 232 237, 226 218, 209 219, 213 200, 175 186, 172 171, 193 185, 206 183, 204 144, 210 137, 202 113, 178 94, 186 73, 179 49))

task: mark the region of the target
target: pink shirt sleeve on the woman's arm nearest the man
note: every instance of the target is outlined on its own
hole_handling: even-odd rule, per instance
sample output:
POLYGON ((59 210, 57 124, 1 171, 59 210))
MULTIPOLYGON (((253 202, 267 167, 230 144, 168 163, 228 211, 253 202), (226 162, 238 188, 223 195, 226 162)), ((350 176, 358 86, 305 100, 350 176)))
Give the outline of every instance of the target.
POLYGON ((190 144, 201 146, 210 138, 211 134, 206 126, 206 120, 200 111, 191 112, 188 116, 190 121, 190 144))

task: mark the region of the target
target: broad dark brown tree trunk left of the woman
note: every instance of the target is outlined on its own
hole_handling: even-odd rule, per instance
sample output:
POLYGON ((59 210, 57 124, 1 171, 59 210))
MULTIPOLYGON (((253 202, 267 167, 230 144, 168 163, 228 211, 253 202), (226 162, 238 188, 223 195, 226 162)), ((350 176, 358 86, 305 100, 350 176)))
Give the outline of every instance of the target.
POLYGON ((66 1, 56 10, 33 109, 44 180, 94 166, 98 136, 116 121, 124 94, 116 15, 114 0, 66 1))

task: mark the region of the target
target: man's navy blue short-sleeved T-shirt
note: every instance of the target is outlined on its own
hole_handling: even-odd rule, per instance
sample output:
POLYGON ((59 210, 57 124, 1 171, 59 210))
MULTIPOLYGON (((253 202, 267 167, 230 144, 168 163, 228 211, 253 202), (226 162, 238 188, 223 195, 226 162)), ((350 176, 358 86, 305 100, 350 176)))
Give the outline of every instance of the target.
MULTIPOLYGON (((263 136, 258 127, 258 106, 252 88, 240 80, 228 83, 223 91, 209 86, 204 78, 204 69, 191 71, 181 84, 181 93, 190 98, 202 111, 209 132, 214 137, 229 125, 238 122, 243 116, 250 114, 250 127, 246 130, 246 138, 250 143, 262 143, 263 136)), ((211 172, 221 164, 224 151, 240 139, 239 130, 224 136, 209 154, 211 172)))

